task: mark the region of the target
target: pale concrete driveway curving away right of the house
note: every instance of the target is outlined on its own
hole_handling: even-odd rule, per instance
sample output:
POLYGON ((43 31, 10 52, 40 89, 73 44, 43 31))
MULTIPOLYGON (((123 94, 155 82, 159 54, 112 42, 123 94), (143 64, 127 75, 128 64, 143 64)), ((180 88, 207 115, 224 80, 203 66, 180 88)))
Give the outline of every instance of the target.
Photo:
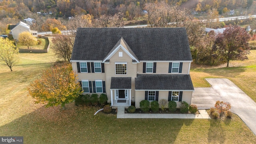
POLYGON ((231 112, 237 114, 256 135, 256 102, 226 78, 206 78, 212 87, 194 88, 192 104, 211 108, 217 100, 230 102, 231 112))

